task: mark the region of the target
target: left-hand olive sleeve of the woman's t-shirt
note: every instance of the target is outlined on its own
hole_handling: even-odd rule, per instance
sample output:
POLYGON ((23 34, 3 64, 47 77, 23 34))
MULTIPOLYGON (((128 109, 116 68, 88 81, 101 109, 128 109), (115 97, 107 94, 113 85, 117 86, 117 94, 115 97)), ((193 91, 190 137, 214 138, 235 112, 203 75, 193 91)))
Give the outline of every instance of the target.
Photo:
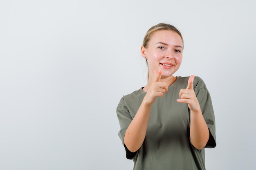
POLYGON ((126 150, 126 158, 133 159, 136 157, 138 151, 133 153, 130 150, 128 150, 128 148, 124 144, 124 135, 126 133, 126 129, 130 125, 130 122, 132 121, 132 116, 130 115, 129 110, 125 105, 124 97, 121 98, 117 106, 117 118, 120 124, 120 131, 118 133, 118 136, 121 139, 122 144, 126 150))

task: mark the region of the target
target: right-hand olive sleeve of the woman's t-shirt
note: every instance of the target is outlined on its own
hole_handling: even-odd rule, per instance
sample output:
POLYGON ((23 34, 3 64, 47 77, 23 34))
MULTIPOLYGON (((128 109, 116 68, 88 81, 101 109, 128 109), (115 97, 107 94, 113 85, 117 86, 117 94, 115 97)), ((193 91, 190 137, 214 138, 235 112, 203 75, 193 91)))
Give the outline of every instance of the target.
MULTIPOLYGON (((216 146, 216 128, 215 128, 215 116, 213 111, 213 105, 211 101, 211 95, 206 88, 206 85, 201 78, 197 77, 198 82, 194 87, 195 94, 200 103, 201 111, 204 120, 208 126, 210 137, 205 148, 214 148, 216 146)), ((194 81, 195 82, 195 81, 194 81)))

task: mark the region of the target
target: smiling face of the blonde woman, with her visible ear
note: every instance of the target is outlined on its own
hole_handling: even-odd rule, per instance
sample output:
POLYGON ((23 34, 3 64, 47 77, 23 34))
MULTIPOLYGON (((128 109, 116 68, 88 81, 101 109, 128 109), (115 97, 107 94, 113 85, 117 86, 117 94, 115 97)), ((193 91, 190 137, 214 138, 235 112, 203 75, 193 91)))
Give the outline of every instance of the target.
POLYGON ((180 35, 171 30, 153 33, 147 48, 141 47, 142 57, 147 58, 149 76, 161 70, 161 78, 172 76, 182 62, 183 43, 180 35))

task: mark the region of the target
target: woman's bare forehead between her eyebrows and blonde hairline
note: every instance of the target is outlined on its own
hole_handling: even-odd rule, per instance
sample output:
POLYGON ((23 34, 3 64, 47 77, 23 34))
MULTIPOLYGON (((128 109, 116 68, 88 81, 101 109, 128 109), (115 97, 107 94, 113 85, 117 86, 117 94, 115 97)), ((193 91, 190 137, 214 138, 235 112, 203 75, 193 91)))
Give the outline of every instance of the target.
POLYGON ((150 38, 151 43, 164 42, 166 44, 175 44, 183 46, 182 39, 178 33, 171 30, 155 31, 150 38))

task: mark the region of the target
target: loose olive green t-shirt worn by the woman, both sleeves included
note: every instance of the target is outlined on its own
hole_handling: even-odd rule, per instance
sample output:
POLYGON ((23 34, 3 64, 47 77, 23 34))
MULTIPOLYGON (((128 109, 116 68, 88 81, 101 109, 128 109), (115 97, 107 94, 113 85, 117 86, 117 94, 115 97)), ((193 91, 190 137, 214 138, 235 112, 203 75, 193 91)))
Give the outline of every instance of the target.
MULTIPOLYGON (((135 153, 124 145, 124 135, 146 92, 140 88, 121 98, 117 106, 120 124, 118 135, 126 149, 126 157, 134 161, 134 170, 205 170, 204 148, 198 150, 190 143, 188 104, 177 102, 180 89, 187 87, 188 80, 189 77, 178 76, 168 87, 168 92, 156 98, 151 107, 146 137, 135 153)), ((205 147, 214 148, 216 135, 211 96, 202 79, 197 76, 193 87, 210 132, 205 147)))

